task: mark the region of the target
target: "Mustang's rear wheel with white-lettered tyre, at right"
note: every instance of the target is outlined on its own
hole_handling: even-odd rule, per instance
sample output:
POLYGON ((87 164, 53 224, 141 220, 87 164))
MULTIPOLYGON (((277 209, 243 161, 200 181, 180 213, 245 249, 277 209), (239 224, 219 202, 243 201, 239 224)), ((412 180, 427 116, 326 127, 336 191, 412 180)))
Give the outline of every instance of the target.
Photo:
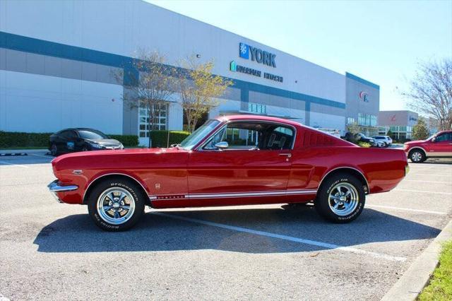
POLYGON ((355 220, 364 208, 362 182, 347 173, 328 177, 317 192, 314 206, 320 216, 335 223, 355 220))

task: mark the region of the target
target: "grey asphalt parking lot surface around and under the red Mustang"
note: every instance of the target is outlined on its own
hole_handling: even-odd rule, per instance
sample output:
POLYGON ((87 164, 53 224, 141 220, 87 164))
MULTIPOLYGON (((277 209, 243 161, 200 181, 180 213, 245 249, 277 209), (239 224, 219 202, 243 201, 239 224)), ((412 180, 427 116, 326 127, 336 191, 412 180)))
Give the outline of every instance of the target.
POLYGON ((103 232, 54 201, 50 160, 0 158, 0 297, 379 300, 452 218, 452 160, 428 160, 345 225, 275 205, 146 209, 103 232))

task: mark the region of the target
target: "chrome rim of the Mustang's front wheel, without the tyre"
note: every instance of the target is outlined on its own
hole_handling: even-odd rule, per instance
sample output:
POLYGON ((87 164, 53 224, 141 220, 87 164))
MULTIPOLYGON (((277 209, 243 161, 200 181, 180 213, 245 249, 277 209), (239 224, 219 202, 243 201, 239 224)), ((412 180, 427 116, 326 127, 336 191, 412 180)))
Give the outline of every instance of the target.
POLYGON ((121 187, 106 189, 97 199, 97 213, 112 225, 126 223, 135 211, 135 200, 129 191, 121 187))

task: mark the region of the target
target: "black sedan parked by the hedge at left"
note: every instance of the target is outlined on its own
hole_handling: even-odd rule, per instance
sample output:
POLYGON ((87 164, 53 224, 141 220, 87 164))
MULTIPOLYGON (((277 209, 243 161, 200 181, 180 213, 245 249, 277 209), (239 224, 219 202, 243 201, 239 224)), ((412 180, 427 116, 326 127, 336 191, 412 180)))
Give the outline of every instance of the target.
POLYGON ((123 149, 121 142, 96 129, 63 129, 50 135, 49 151, 52 155, 76 151, 123 149))

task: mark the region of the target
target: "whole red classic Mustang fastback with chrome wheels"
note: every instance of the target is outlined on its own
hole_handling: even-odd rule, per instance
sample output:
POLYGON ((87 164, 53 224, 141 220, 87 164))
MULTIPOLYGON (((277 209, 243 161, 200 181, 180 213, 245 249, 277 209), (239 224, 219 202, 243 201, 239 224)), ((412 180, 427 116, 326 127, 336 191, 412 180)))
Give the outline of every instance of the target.
POLYGON ((171 148, 95 151, 52 160, 49 189, 88 205, 96 225, 125 230, 144 207, 307 203, 328 220, 359 216, 365 195, 389 191, 408 172, 402 150, 360 148, 285 119, 211 119, 171 148))

